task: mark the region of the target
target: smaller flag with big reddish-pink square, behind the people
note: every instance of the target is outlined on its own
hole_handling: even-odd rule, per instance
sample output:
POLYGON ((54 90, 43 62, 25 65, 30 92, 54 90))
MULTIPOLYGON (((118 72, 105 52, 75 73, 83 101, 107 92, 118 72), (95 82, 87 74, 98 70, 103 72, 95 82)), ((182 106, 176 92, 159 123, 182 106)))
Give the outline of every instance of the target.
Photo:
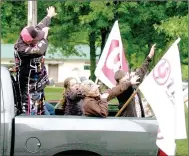
POLYGON ((128 71, 118 21, 112 27, 106 45, 95 69, 97 79, 112 88, 116 85, 114 74, 118 69, 128 71))

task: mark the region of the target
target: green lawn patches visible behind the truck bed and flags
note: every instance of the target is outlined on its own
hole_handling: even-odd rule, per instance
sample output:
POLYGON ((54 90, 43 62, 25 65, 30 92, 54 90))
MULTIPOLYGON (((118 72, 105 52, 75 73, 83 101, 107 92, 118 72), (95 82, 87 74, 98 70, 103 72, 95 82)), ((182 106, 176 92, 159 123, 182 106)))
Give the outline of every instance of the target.
MULTIPOLYGON (((57 87, 47 87, 45 88, 45 96, 46 100, 59 100, 62 97, 63 88, 57 88, 57 87)), ((117 100, 113 99, 110 101, 110 104, 117 104, 117 100)), ((188 134, 188 109, 185 105, 185 119, 186 119, 186 131, 188 134)), ((188 156, 188 140, 176 140, 177 144, 177 150, 176 155, 177 156, 188 156)))

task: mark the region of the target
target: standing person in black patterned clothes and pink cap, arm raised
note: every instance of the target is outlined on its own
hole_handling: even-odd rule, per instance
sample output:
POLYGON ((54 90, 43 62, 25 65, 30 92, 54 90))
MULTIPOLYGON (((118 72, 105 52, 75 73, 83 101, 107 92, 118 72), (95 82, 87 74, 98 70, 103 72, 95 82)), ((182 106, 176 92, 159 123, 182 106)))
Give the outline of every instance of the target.
POLYGON ((21 107, 22 112, 27 115, 31 115, 32 110, 36 110, 36 114, 44 114, 43 89, 49 83, 44 58, 49 25, 56 14, 54 7, 47 8, 47 16, 37 26, 23 28, 14 45, 21 107))

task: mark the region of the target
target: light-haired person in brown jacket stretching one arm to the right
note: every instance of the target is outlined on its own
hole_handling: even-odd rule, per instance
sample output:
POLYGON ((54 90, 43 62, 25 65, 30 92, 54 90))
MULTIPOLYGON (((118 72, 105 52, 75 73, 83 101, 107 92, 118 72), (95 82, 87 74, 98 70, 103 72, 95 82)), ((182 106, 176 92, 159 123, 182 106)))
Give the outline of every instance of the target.
POLYGON ((121 83, 120 85, 108 89, 106 93, 100 94, 99 86, 92 80, 85 80, 82 83, 82 90, 85 98, 83 101, 83 111, 86 116, 107 117, 108 101, 121 94, 130 85, 137 84, 138 76, 132 77, 130 82, 121 83))

